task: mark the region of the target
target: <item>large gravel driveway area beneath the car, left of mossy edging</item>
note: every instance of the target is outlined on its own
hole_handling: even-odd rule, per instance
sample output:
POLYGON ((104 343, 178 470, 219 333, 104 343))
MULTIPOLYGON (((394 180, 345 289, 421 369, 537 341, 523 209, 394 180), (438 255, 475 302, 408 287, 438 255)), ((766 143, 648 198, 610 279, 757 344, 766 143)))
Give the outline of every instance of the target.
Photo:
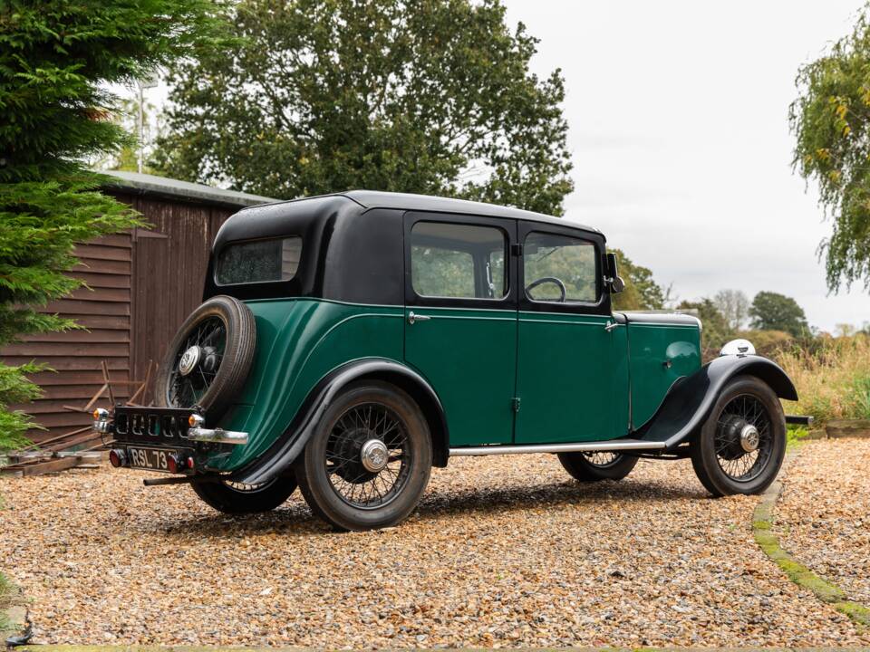
POLYGON ((556 458, 459 458, 411 521, 337 534, 295 495, 229 518, 102 469, 0 478, 0 568, 38 642, 307 647, 870 643, 753 542, 756 497, 688 462, 577 484, 556 458))

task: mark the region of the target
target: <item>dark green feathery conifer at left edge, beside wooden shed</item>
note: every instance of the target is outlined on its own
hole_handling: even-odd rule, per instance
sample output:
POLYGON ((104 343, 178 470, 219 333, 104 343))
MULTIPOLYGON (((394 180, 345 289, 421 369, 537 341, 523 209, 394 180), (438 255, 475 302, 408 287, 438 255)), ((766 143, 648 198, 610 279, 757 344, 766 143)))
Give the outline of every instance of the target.
MULTIPOLYGON (((137 224, 82 163, 129 142, 106 84, 213 43, 218 11, 209 0, 0 3, 0 346, 73 328, 39 309, 82 285, 64 274, 75 243, 137 224)), ((0 449, 33 426, 7 406, 39 395, 25 374, 40 369, 0 364, 0 449)))

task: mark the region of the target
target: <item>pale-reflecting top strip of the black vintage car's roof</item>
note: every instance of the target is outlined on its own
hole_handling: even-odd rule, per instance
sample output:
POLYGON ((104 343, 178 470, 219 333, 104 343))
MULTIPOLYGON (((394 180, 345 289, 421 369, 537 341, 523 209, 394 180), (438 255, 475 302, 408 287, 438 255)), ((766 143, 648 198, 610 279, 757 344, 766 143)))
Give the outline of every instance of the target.
MULTIPOLYGON (((467 199, 432 197, 430 195, 414 195, 411 193, 383 192, 380 190, 348 190, 342 193, 319 195, 317 197, 346 197, 366 209, 397 208, 414 211, 431 211, 433 213, 460 213, 486 217, 505 217, 507 219, 523 219, 531 220, 533 222, 544 222, 546 224, 567 226, 584 231, 591 231, 597 234, 601 233, 601 231, 594 228, 594 226, 582 225, 562 217, 547 216, 542 213, 522 210, 521 208, 497 206, 495 204, 485 204, 483 202, 469 201, 467 199)), ((290 199, 286 202, 275 202, 275 204, 302 202, 317 197, 302 197, 299 199, 290 199)), ((267 204, 266 206, 275 206, 275 204, 267 204)), ((254 206, 251 208, 254 208, 254 206)), ((251 208, 243 209, 242 212, 247 212, 248 210, 251 210, 251 208)))

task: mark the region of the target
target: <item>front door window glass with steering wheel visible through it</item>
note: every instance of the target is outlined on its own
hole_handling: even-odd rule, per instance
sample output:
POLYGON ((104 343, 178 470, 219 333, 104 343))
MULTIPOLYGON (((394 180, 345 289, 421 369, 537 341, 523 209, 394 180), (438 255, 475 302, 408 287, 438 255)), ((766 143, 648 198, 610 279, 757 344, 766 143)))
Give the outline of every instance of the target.
POLYGON ((526 296, 535 302, 598 300, 595 245, 568 235, 533 231, 523 243, 526 296))

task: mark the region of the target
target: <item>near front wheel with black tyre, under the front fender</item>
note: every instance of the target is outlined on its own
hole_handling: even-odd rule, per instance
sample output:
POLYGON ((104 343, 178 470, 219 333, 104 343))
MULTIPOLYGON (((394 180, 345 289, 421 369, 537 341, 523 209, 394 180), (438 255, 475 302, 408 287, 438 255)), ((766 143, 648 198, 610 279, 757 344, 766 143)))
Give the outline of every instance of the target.
POLYGON ((760 494, 776 479, 786 454, 786 418, 777 395, 754 376, 732 379, 690 451, 695 474, 710 494, 760 494), (757 429, 754 451, 741 443, 745 425, 757 429))

